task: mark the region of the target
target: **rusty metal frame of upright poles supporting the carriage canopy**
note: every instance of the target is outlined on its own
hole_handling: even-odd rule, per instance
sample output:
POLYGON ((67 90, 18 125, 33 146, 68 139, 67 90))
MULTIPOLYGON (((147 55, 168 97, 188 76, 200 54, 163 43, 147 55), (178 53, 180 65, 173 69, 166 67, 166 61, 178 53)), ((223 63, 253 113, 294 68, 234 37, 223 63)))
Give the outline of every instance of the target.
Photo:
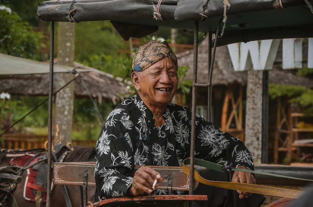
MULTIPOLYGON (((209 33, 209 48, 208 48, 208 83, 197 83, 198 70, 198 33, 199 22, 194 22, 194 36, 193 36, 193 78, 192 78, 192 122, 191 122, 191 143, 190 143, 190 183, 194 182, 194 149, 195 149, 195 127, 196 127, 196 105, 197 105, 197 87, 208 87, 208 121, 211 121, 211 91, 212 91, 212 73, 215 58, 215 51, 217 47, 218 38, 223 36, 223 31, 220 33, 222 19, 218 23, 218 28, 215 33, 215 40, 212 50, 212 33, 209 33)), ((48 168, 51 164, 51 150, 52 150, 52 99, 53 99, 53 65, 54 65, 54 22, 50 22, 50 73, 49 73, 49 106, 48 106, 48 168)), ((47 173, 47 203, 51 203, 51 171, 48 169, 47 173)), ((85 203, 85 189, 83 190, 85 203)), ((189 195, 193 195, 194 186, 189 186, 189 195)))

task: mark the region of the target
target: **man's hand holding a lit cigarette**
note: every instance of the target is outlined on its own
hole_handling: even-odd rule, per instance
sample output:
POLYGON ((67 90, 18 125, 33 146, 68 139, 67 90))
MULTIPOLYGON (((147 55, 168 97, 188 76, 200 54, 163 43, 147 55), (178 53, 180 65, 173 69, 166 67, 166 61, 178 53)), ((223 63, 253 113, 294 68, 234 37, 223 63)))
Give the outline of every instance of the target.
MULTIPOLYGON (((156 170, 142 166, 135 172, 133 183, 128 189, 127 194, 136 196, 142 193, 152 193, 152 185, 155 179, 157 179, 158 183, 163 180, 156 170)), ((158 184, 156 184, 156 186, 158 186, 158 184)))

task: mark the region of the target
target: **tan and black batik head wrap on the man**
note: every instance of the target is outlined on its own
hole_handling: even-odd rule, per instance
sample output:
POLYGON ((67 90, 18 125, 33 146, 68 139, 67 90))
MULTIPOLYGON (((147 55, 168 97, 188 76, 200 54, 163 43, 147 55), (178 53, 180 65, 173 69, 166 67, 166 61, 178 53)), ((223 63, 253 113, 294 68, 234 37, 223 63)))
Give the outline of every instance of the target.
POLYGON ((143 71, 164 58, 172 59, 178 69, 177 57, 167 42, 149 40, 138 48, 133 59, 132 69, 133 71, 143 71))

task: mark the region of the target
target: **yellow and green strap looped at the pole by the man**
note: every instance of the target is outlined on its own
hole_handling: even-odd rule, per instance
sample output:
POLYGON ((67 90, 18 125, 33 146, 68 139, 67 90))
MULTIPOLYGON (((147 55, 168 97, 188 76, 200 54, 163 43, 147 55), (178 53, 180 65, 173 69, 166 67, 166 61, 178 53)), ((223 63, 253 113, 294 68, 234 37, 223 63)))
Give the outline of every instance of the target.
MULTIPOLYGON (((190 158, 185 159, 182 164, 182 170, 187 175, 190 174, 190 168, 187 166, 188 164, 190 164, 190 158)), ((221 167, 223 167, 222 165, 211 163, 202 159, 194 159, 194 165, 199 165, 199 166, 206 167, 209 169, 217 170, 219 172, 224 172, 221 169, 221 167)), ((234 169, 234 170, 239 170, 239 169, 234 169)), ((243 171, 243 170, 240 169, 240 171, 243 171)), ((259 173, 254 170, 249 170, 249 172, 259 173)), ((231 190, 240 190, 244 192, 265 194, 265 195, 272 195, 272 196, 279 196, 279 197, 298 198, 301 194, 304 193, 303 191, 299 191, 299 190, 277 188, 277 187, 271 187, 271 186, 265 186, 265 185, 233 183, 233 182, 224 182, 224 181, 211 181, 211 180, 204 179, 196 171, 194 171, 194 179, 200 183, 214 186, 214 187, 231 189, 231 190)))

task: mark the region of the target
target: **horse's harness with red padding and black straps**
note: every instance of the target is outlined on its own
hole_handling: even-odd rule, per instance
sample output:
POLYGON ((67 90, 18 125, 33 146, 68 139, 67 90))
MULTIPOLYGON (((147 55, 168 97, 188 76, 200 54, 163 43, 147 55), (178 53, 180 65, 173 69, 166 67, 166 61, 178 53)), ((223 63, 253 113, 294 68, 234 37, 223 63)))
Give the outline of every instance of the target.
MULTIPOLYGON (((51 154, 52 163, 63 162, 70 151, 63 144, 54 146, 51 154)), ((21 174, 27 169, 28 179, 25 181, 24 197, 26 200, 36 202, 36 207, 41 207, 43 202, 45 202, 47 193, 47 151, 44 148, 29 150, 1 149, 0 163, 4 158, 8 157, 12 157, 9 161, 10 165, 0 167, 0 206, 8 200, 12 207, 18 207, 12 192, 16 188, 16 185, 21 182, 21 174)), ((67 206, 71 206, 69 195, 66 189, 63 190, 66 204, 67 206)))

